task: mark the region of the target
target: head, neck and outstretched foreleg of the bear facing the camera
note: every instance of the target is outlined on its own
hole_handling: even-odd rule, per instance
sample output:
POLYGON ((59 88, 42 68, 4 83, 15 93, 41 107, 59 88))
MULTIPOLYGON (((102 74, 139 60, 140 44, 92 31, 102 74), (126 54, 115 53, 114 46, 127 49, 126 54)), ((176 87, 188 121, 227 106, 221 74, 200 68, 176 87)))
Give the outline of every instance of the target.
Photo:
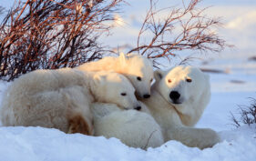
POLYGON ((214 146, 220 137, 211 129, 194 128, 210 102, 209 75, 192 66, 157 70, 151 97, 142 102, 162 128, 165 141, 178 140, 187 146, 214 146))

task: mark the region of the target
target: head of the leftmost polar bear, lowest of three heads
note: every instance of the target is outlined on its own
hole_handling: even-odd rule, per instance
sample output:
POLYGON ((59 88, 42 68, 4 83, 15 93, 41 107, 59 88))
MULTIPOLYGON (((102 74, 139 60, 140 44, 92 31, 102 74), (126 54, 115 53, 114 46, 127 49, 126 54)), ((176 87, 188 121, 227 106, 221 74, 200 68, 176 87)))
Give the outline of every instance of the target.
POLYGON ((95 88, 91 89, 97 102, 116 104, 124 109, 140 109, 135 88, 124 75, 111 72, 97 72, 95 88))

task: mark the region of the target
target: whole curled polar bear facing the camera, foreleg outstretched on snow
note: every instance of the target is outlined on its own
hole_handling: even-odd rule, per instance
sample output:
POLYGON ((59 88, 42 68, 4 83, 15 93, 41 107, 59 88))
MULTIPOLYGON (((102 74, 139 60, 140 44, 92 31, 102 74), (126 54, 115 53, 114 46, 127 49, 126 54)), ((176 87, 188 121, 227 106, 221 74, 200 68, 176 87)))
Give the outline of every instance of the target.
POLYGON ((92 104, 95 135, 115 136, 128 146, 142 148, 169 140, 201 149, 218 143, 220 138, 213 130, 192 127, 210 101, 209 75, 195 67, 177 66, 166 72, 157 70, 155 77, 151 97, 142 100, 148 109, 142 105, 142 110, 158 124, 148 114, 92 104))

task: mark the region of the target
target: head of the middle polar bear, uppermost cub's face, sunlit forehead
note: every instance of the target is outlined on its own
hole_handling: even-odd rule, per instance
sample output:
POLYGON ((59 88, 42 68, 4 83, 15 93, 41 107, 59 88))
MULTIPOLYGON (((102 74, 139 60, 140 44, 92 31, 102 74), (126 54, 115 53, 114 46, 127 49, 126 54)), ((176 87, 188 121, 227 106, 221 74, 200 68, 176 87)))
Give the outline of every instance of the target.
POLYGON ((119 62, 126 75, 141 98, 150 97, 150 86, 154 78, 152 62, 142 55, 119 55, 119 62))

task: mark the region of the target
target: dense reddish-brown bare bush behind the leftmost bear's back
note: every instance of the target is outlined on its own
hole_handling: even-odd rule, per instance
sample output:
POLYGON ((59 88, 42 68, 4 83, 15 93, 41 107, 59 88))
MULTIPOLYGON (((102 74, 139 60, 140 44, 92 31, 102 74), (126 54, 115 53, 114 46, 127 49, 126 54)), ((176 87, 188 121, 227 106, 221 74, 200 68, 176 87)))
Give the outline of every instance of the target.
POLYGON ((39 68, 73 67, 101 58, 97 42, 122 0, 16 2, 0 25, 0 78, 39 68))

